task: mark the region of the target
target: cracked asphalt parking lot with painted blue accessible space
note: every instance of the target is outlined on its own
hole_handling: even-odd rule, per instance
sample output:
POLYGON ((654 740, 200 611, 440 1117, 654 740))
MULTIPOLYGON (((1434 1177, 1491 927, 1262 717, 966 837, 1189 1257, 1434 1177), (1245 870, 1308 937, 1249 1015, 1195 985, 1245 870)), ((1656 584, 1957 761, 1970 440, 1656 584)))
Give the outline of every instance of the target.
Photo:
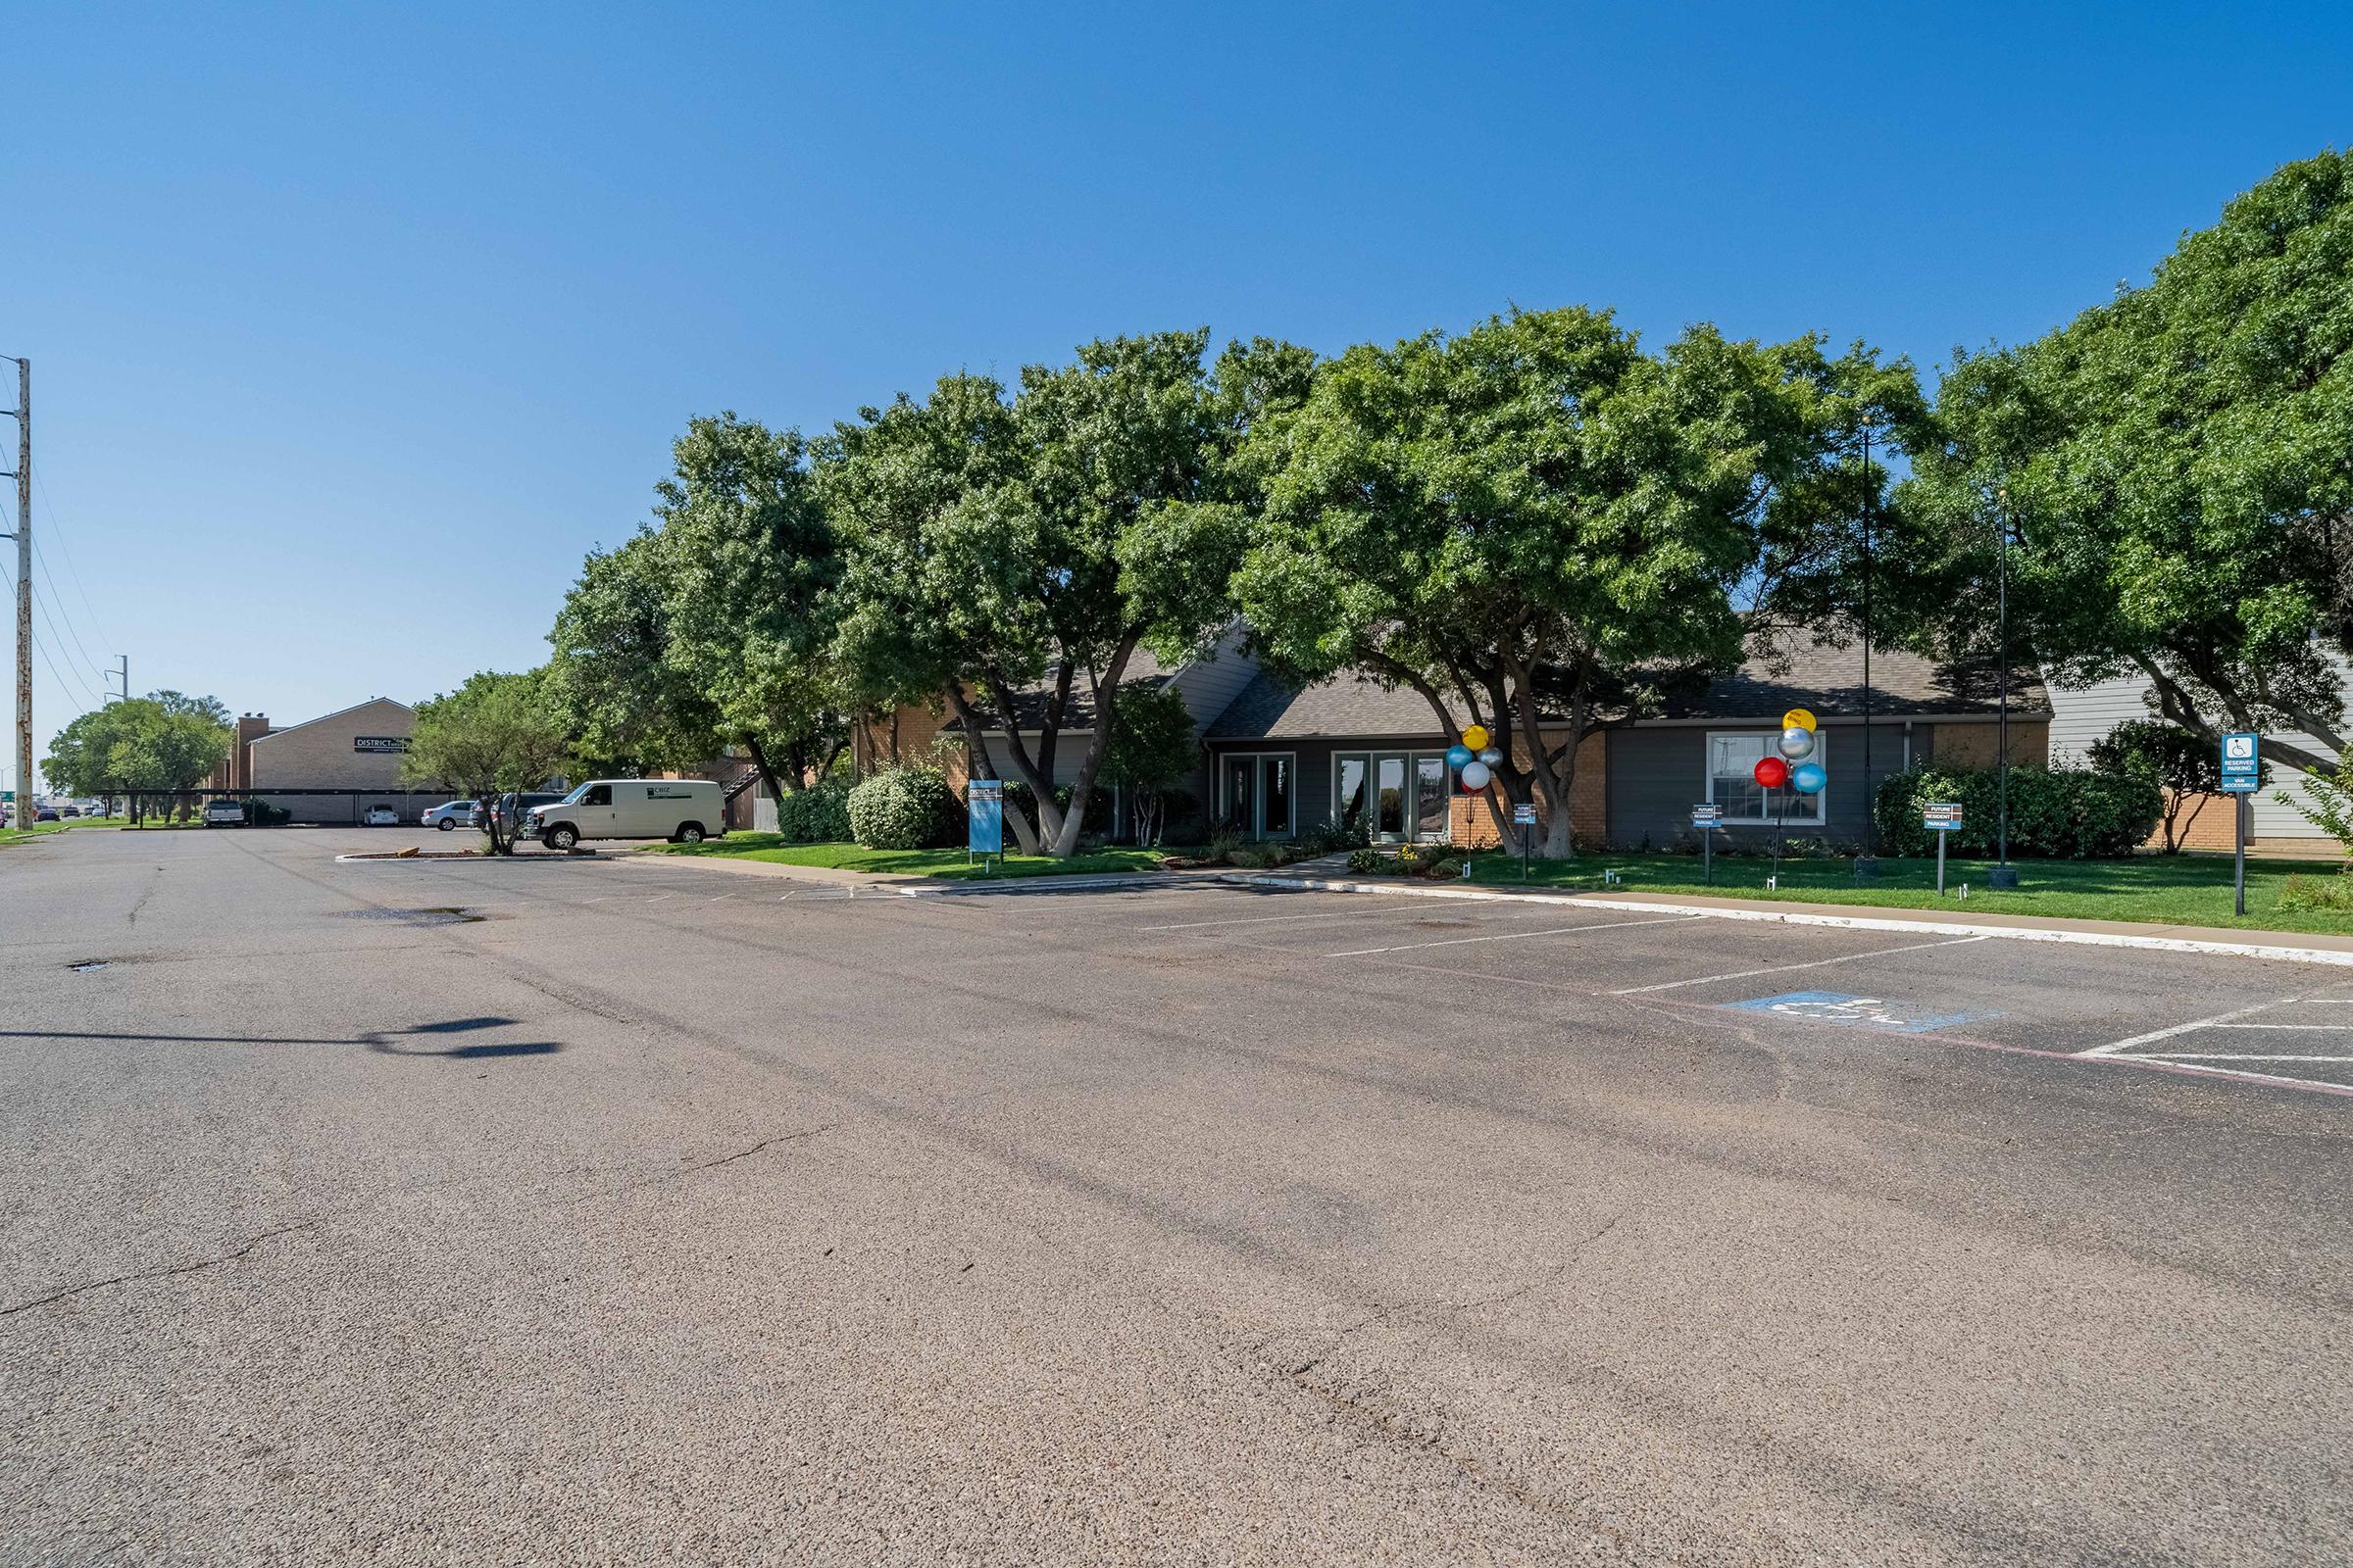
POLYGON ((2353 969, 386 842, 0 858, 5 1561, 2353 1552, 2353 969))

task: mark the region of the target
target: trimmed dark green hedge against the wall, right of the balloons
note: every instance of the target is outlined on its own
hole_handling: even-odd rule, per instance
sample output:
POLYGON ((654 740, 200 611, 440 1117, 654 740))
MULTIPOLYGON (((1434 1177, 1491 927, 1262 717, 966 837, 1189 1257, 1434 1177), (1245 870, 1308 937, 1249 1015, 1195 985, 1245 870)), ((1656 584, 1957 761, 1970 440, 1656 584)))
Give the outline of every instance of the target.
MULTIPOLYGON (((1873 802, 1880 846, 1899 856, 1932 856, 1934 835, 1920 825, 1927 802, 1958 802, 1953 853, 1991 856, 2000 844, 2000 769, 1939 769, 1934 764, 1880 780, 1873 802)), ((2089 769, 2009 769, 2009 853, 2042 860, 2129 856, 2155 830, 2165 792, 2148 773, 2089 769)))

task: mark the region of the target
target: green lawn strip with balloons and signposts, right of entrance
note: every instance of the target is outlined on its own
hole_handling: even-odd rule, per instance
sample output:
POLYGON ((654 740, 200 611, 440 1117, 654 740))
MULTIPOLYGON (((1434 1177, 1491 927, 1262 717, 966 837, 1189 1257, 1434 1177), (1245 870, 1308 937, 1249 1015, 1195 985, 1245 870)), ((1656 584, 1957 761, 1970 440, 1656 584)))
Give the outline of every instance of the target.
MULTIPOLYGON (((1795 903, 1852 903, 1892 910, 1951 910, 1955 914, 2054 914, 2066 919, 2134 919, 2169 926, 2242 926, 2252 931, 2322 931, 2353 936, 2353 910, 2282 910, 2289 875, 2334 879, 2334 860, 2247 860, 2247 919, 2231 914, 2231 860, 2219 856, 2134 856, 2132 860, 2012 860, 2019 886, 1995 893, 1986 886, 1991 860, 1948 860, 1946 896, 1937 898, 1934 860, 1880 856, 1880 879, 1854 882, 1849 860, 1781 860, 1779 891, 1765 891, 1772 860, 1765 856, 1715 856, 1715 884, 1699 879, 1699 856, 1579 856, 1534 860, 1527 882, 1602 891, 1602 870, 1624 877, 1612 891, 1628 893, 1722 893, 1732 898, 1784 898, 1795 903), (1960 884, 1969 898, 1958 898, 1960 884)), ((1487 853, 1471 860, 1480 884, 1518 884, 1518 856, 1487 853)))

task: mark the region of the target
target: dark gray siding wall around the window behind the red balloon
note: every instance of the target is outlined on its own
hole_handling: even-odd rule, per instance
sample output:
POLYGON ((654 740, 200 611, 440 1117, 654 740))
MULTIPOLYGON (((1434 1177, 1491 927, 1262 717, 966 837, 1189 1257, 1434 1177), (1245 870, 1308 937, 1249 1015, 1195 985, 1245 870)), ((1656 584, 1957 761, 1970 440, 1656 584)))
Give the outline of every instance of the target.
MULTIPOLYGON (((1929 755, 1929 724, 1913 726, 1913 762, 1929 755)), ((1692 835, 1692 806, 1708 797, 1708 726, 1633 726, 1609 731, 1609 842, 1640 846, 1673 844, 1692 835)), ((1765 724, 1715 724, 1713 733, 1769 733, 1765 724)), ((1791 825, 1793 835, 1828 835, 1859 844, 1868 813, 1864 795, 1864 726, 1824 724, 1812 762, 1831 771, 1828 823, 1791 825)), ((1904 769, 1904 722, 1871 726, 1871 773, 1887 778, 1904 769)), ((1727 825, 1732 837, 1772 837, 1772 825, 1727 825)))

